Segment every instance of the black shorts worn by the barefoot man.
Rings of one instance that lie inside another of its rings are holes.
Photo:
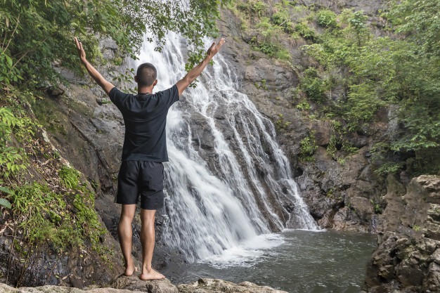
[[[137,204],[141,209],[164,206],[164,165],[161,162],[122,161],[117,179],[118,204]]]

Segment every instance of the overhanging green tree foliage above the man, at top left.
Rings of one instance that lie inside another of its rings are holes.
[[[143,42],[164,44],[179,32],[191,49],[189,63],[202,57],[203,37],[216,33],[219,4],[228,0],[112,1],[8,0],[0,4],[0,82],[33,87],[58,77],[53,64],[78,71],[72,37],[78,36],[91,60],[101,58],[98,42],[112,39],[122,56],[134,57]]]

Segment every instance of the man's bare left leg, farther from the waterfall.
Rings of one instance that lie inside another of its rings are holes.
[[[117,225],[117,235],[125,261],[124,275],[133,275],[134,271],[136,271],[133,258],[131,257],[131,244],[133,242],[131,222],[133,221],[135,211],[136,204],[122,204],[121,217]]]

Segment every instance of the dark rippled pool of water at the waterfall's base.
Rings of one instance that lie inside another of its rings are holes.
[[[260,235],[167,277],[174,283],[198,278],[247,280],[291,293],[358,293],[375,246],[375,235],[285,230]]]

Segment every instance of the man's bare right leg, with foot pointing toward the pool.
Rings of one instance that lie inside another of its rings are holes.
[[[165,278],[151,267],[155,249],[155,214],[156,211],[153,209],[141,209],[142,273],[139,276],[141,280]]]

